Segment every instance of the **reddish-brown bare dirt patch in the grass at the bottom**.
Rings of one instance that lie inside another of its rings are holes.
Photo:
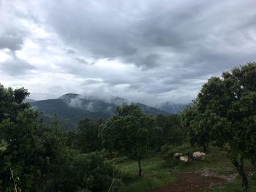
[[[176,175],[176,183],[158,188],[151,192],[197,192],[209,188],[211,183],[225,183],[227,180],[221,177],[205,176],[200,172],[191,172]]]

